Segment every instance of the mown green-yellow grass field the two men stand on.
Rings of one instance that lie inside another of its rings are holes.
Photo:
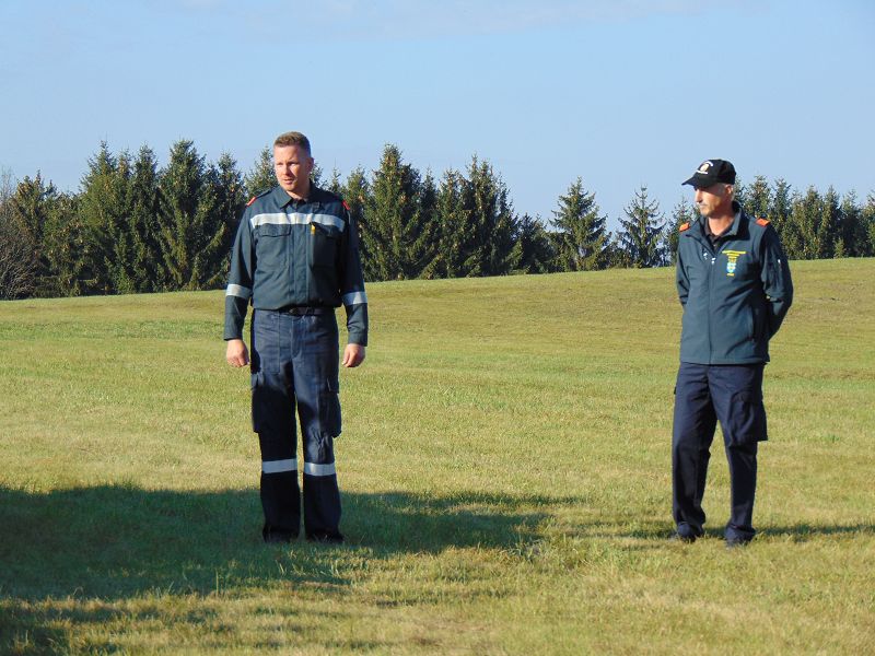
[[[793,273],[735,551],[720,436],[665,539],[668,269],[370,285],[343,547],[260,541],[221,292],[0,303],[0,653],[872,654],[875,260]]]

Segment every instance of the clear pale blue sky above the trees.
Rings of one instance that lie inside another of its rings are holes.
[[[875,191],[872,0],[0,0],[0,168],[62,190],[102,140],[246,171],[296,129],[343,176],[385,143],[435,177],[476,153],[544,219],[581,176],[611,227],[709,157]]]

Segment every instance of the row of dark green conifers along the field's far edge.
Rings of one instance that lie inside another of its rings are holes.
[[[369,281],[665,266],[678,227],[697,216],[686,199],[666,216],[641,187],[611,232],[580,177],[549,219],[521,215],[488,161],[435,179],[393,144],[370,175],[317,166],[313,177],[347,200]],[[101,143],[74,194],[40,173],[16,183],[2,172],[0,298],[219,289],[246,200],[275,184],[269,148],[244,174],[231,155],[208,162],[188,140],[163,167],[147,145],[132,155]],[[861,202],[758,176],[737,184],[736,198],[772,222],[791,259],[875,255],[873,192]]]

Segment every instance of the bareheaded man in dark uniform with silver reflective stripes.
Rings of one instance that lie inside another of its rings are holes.
[[[287,132],[277,138],[279,186],[247,203],[225,293],[226,360],[236,367],[252,365],[266,542],[288,542],[300,530],[295,408],[304,455],[305,535],[320,542],[343,541],[334,453],[340,434],[335,308],[342,303],[347,311],[342,364],[358,366],[368,344],[368,297],[355,223],[340,198],[311,181],[313,163],[306,137]],[[252,362],[242,337],[249,302]]]

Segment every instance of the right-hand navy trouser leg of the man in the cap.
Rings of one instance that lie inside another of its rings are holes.
[[[711,366],[709,388],[730,464],[732,503],[727,539],[754,537],[758,443],[767,438],[762,364]]]

